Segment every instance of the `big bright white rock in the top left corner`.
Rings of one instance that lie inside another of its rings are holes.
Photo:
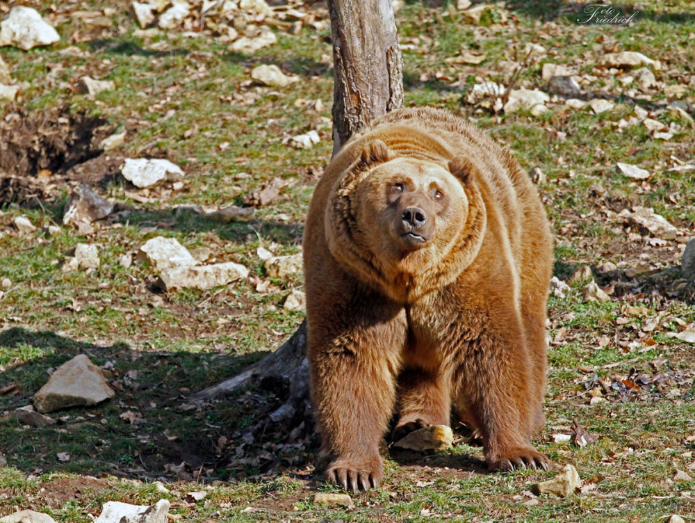
[[[13,45],[28,51],[33,47],[54,44],[58,40],[58,31],[30,7],[15,6],[0,22],[0,47]]]

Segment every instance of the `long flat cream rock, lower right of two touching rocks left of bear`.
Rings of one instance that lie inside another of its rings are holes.
[[[157,285],[170,291],[172,289],[207,290],[220,287],[237,280],[245,280],[249,270],[233,261],[222,264],[196,265],[165,268],[159,273]]]

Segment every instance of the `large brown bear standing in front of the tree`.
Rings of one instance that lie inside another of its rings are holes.
[[[330,162],[304,233],[307,355],[325,477],[379,484],[379,443],[450,424],[489,469],[548,467],[543,426],[552,236],[506,150],[434,108],[384,115]]]

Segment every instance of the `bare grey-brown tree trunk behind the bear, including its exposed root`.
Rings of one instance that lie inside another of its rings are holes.
[[[333,154],[377,116],[403,105],[402,58],[391,0],[328,0],[336,83]],[[266,378],[283,381],[286,403],[270,414],[277,423],[309,408],[306,320],[274,353],[242,373],[199,392],[206,401]]]

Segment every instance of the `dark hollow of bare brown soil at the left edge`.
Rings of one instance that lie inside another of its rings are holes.
[[[67,106],[35,113],[10,107],[0,120],[0,203],[51,200],[69,179],[115,175],[122,159],[99,148],[110,131],[103,118],[71,114]],[[89,168],[78,168],[86,162]]]

